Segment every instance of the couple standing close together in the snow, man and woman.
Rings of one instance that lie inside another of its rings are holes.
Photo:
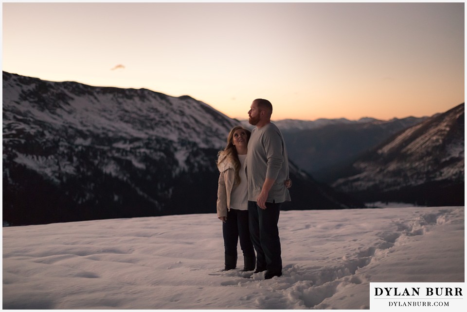
[[[282,203],[290,201],[291,186],[284,138],[271,123],[271,114],[268,100],[255,99],[248,115],[256,128],[250,132],[234,127],[217,159],[217,217],[223,222],[225,270],[236,267],[240,238],[243,270],[266,271],[265,279],[282,275],[277,224]]]

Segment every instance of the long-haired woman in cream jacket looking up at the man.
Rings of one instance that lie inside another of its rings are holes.
[[[243,271],[252,271],[256,256],[248,228],[248,189],[243,164],[247,157],[251,131],[241,126],[234,127],[228,137],[227,146],[218,153],[217,168],[217,217],[222,220],[224,237],[225,270],[237,265],[237,242],[243,251]]]

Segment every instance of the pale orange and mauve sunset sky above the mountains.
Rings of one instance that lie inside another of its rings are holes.
[[[3,70],[189,95],[235,118],[379,119],[464,102],[464,2],[3,3]]]

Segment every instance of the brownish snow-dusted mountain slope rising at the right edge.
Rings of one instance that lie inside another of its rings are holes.
[[[332,185],[346,192],[371,192],[375,197],[415,193],[419,204],[463,204],[464,119],[464,103],[435,115],[354,162],[351,169],[341,171],[348,174]]]

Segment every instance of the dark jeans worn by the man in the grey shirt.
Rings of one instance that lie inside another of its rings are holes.
[[[279,239],[279,212],[281,203],[266,203],[261,209],[255,201],[248,201],[250,235],[256,250],[256,271],[282,272],[281,241]]]

